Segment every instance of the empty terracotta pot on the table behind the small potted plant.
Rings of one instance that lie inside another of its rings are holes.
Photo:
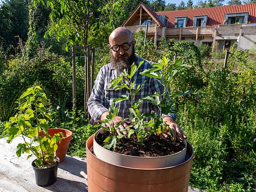
[[[58,143],[58,149],[56,151],[56,155],[59,157],[60,161],[64,161],[65,156],[67,154],[68,148],[69,148],[69,143],[72,139],[73,133],[72,131],[69,131],[68,129],[64,128],[49,128],[48,129],[48,134],[53,136],[55,133],[63,133],[64,139],[61,140],[60,143]],[[44,135],[43,132],[39,133],[39,136]],[[61,135],[60,135],[61,137]]]

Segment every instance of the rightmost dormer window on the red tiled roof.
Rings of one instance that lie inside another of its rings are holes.
[[[224,24],[241,24],[247,23],[249,17],[249,13],[227,13],[225,14],[225,22]]]

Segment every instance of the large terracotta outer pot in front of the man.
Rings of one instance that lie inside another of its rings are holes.
[[[187,192],[193,148],[187,142],[186,161],[157,169],[139,169],[113,165],[98,159],[92,152],[92,135],[86,142],[89,192]]]

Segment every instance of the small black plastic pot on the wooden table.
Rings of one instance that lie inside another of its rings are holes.
[[[56,157],[57,163],[48,168],[38,168],[35,165],[35,160],[32,162],[32,167],[35,171],[36,183],[38,186],[49,186],[57,180],[57,171],[59,166],[59,157]]]

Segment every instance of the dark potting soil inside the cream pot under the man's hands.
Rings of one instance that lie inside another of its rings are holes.
[[[109,132],[98,133],[96,142],[102,147],[108,143],[103,142]],[[115,153],[123,155],[131,155],[138,157],[160,157],[165,155],[175,154],[185,148],[185,144],[181,141],[171,140],[171,136],[165,138],[162,134],[152,134],[150,138],[144,141],[144,144],[138,143],[136,134],[133,134],[130,139],[122,138],[122,141],[117,140],[116,148],[109,149]]]

